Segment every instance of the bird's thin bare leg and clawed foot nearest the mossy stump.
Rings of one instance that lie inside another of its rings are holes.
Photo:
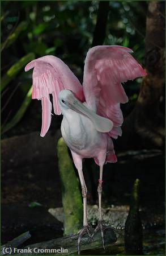
[[[91,237],[90,226],[87,222],[87,187],[84,181],[84,176],[82,170],[78,170],[80,184],[82,187],[82,196],[83,196],[83,228],[78,232],[78,254],[80,254],[80,241],[82,240],[83,234],[87,233]]]

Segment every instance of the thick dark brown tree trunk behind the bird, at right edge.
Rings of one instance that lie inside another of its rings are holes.
[[[142,81],[135,108],[125,119],[118,144],[127,147],[164,146],[164,71],[165,18],[164,2],[151,1],[146,18],[146,55],[148,75]]]

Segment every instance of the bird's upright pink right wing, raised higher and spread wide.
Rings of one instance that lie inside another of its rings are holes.
[[[122,46],[96,46],[88,51],[84,65],[83,91],[87,105],[113,121],[114,127],[109,132],[113,138],[122,134],[120,103],[128,101],[121,82],[146,75],[131,52]]]

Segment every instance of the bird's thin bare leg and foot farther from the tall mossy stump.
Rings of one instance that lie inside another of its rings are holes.
[[[99,185],[98,185],[98,188],[97,188],[97,192],[98,192],[98,195],[99,195],[99,221],[98,221],[98,224],[92,234],[92,237],[95,235],[95,233],[97,233],[99,230],[101,232],[101,238],[102,238],[102,242],[103,242],[103,247],[105,249],[105,245],[104,245],[104,232],[106,229],[112,229],[112,227],[109,227],[109,226],[105,226],[104,225],[104,221],[103,221],[103,218],[102,218],[102,213],[101,213],[101,193],[102,193],[102,190],[103,190],[103,166],[100,166],[100,178],[99,178]]]

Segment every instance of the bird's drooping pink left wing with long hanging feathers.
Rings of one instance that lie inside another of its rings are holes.
[[[84,100],[83,87],[69,67],[57,57],[48,55],[31,61],[26,65],[25,71],[33,69],[32,98],[41,100],[42,127],[41,137],[44,137],[51,122],[52,104],[49,94],[53,96],[54,113],[61,114],[58,103],[58,94],[61,90],[69,89],[80,100]]]

